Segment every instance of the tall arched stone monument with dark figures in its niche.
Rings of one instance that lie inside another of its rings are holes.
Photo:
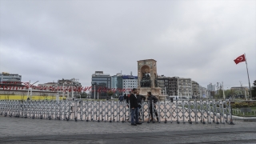
[[[158,87],[157,61],[145,59],[138,62],[138,91],[146,96],[151,91],[152,95],[159,100],[165,100],[166,96],[161,95],[161,88]]]

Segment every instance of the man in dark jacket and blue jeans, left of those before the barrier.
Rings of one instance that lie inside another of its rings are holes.
[[[132,93],[130,94],[130,122],[132,126],[141,125],[141,122],[138,122],[138,98],[136,96],[137,89],[133,89]],[[135,122],[134,122],[134,115],[135,115]]]

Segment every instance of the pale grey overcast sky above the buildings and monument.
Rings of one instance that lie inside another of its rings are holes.
[[[0,71],[22,82],[77,78],[97,70],[137,75],[154,59],[158,75],[201,86],[256,80],[256,1],[0,0]]]

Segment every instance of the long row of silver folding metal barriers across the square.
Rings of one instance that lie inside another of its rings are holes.
[[[16,118],[48,118],[58,120],[127,122],[129,104],[116,101],[0,101],[0,114]],[[230,101],[142,102],[139,104],[142,122],[232,122]],[[157,119],[157,121],[156,121]]]

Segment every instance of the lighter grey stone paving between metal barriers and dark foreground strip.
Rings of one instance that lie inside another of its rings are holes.
[[[256,126],[256,122],[234,121],[235,125],[201,122],[177,124],[173,123],[146,123],[131,126],[129,122],[86,122],[63,121],[31,118],[14,118],[0,116],[0,138],[26,135],[54,135],[54,134],[114,134],[114,133],[151,133],[165,131],[186,130],[227,130],[245,129]]]

